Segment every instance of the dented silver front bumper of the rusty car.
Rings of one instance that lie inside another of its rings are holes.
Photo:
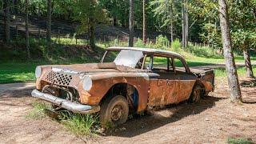
[[[70,110],[74,113],[90,114],[90,113],[98,112],[100,110],[100,106],[89,106],[89,105],[78,104],[75,102],[70,102],[66,99],[58,98],[51,94],[45,94],[38,90],[33,90],[31,95],[34,98],[40,98],[47,102],[51,102],[56,106],[62,107],[66,110]]]

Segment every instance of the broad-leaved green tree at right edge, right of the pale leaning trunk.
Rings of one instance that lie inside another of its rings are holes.
[[[256,25],[253,13],[255,6],[252,0],[230,0],[233,45],[243,51],[246,74],[250,78],[254,78],[248,50],[255,49]]]

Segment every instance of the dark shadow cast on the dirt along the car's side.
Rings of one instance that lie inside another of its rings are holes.
[[[152,115],[135,116],[128,120],[124,125],[119,126],[121,129],[125,127],[126,130],[117,130],[106,135],[113,135],[118,137],[132,138],[136,135],[146,133],[158,127],[165,126],[171,122],[177,122],[189,115],[200,114],[202,111],[209,109],[215,105],[215,102],[223,98],[216,98],[207,96],[201,102],[194,104],[187,104],[182,102],[178,105],[168,106],[166,110],[161,110],[164,114],[159,114],[158,111]]]

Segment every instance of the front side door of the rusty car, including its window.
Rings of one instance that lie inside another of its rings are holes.
[[[152,72],[158,77],[150,78],[148,106],[165,106],[176,102],[178,78],[174,73],[172,58],[154,57]]]

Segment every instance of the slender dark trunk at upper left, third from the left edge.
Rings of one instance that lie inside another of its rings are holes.
[[[46,27],[46,43],[47,50],[50,50],[50,34],[51,34],[51,0],[47,0],[47,27]]]

